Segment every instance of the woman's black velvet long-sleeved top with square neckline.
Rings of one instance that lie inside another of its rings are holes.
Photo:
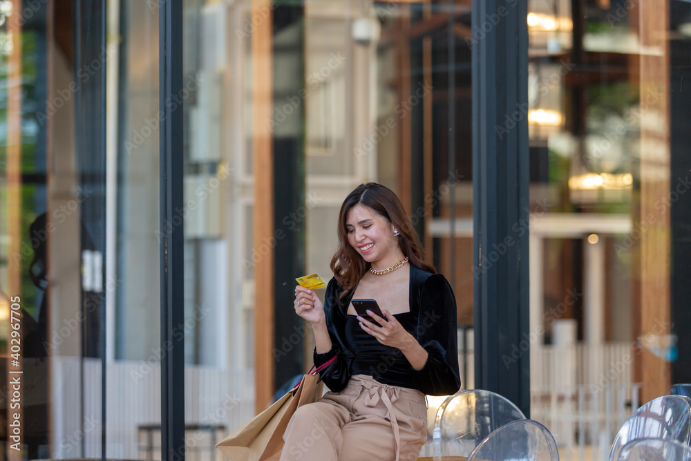
[[[384,346],[362,330],[354,315],[346,314],[352,292],[343,297],[343,286],[332,278],[326,288],[324,313],[332,348],[314,350],[320,366],[337,355],[321,375],[334,392],[342,391],[352,375],[370,375],[382,384],[413,388],[427,395],[451,395],[460,388],[456,344],[456,301],[442,274],[431,274],[410,265],[410,312],[395,314],[428,353],[421,370],[415,370],[403,352]]]

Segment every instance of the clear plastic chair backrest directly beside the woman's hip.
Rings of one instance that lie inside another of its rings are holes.
[[[447,397],[439,406],[433,430],[435,456],[468,456],[495,429],[525,415],[499,394],[472,389]]]

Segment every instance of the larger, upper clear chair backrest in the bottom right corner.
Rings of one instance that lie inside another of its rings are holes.
[[[641,406],[621,426],[609,452],[615,461],[623,447],[643,438],[691,442],[691,399],[681,395],[663,395]]]

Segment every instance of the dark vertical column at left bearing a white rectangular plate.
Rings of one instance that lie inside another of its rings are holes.
[[[68,5],[70,8],[68,8]],[[75,146],[79,185],[80,280],[79,412],[82,421],[85,395],[91,392],[84,379],[85,359],[101,361],[101,459],[106,457],[106,1],[61,1],[55,6],[56,25],[73,33],[75,97]],[[68,21],[66,21],[68,20]],[[88,75],[84,79],[82,75]],[[88,282],[87,282],[88,281]],[[79,442],[84,457],[86,440]]]

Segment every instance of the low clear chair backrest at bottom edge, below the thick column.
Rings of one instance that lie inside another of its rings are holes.
[[[551,433],[533,420],[513,421],[480,442],[467,461],[559,461],[559,451]]]

